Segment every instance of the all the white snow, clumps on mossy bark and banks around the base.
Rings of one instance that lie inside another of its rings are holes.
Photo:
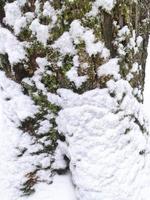
[[[16,0],[6,3],[4,22],[10,25],[16,35],[27,22],[34,18],[33,13],[22,16],[21,6],[26,0]],[[52,19],[51,25],[39,23],[38,18],[30,25],[33,35],[43,45],[47,44],[49,31],[57,20],[57,12],[46,1],[43,15]],[[96,16],[99,8],[110,12],[115,0],[95,0],[88,16]],[[40,10],[40,1],[36,0],[36,14]],[[124,41],[130,35],[127,26],[118,33],[118,41]],[[132,33],[127,48],[136,52],[142,44],[142,37],[136,38]],[[2,200],[149,200],[150,197],[150,141],[149,135],[142,134],[140,126],[145,128],[143,105],[133,94],[138,94],[129,83],[120,79],[118,59],[110,59],[109,50],[101,41],[97,41],[93,30],[83,27],[79,20],[74,20],[68,32],[63,33],[52,47],[63,56],[73,55],[73,66],[67,72],[67,77],[80,87],[87,76],[78,76],[80,66],[76,46],[83,42],[89,56],[99,54],[105,63],[98,70],[98,76],[113,75],[114,80],[107,83],[107,89],[94,89],[81,95],[67,89],[59,89],[57,94],[48,93],[41,79],[50,65],[46,58],[38,57],[38,69],[31,79],[25,79],[29,84],[35,84],[38,90],[47,95],[51,103],[62,106],[58,113],[58,131],[66,137],[66,142],[58,141],[55,162],[52,168],[66,167],[64,155],[70,159],[70,172],[66,175],[55,175],[52,184],[39,183],[35,185],[36,193],[29,197],[21,197],[19,186],[25,181],[24,175],[40,165],[47,168],[51,163],[51,155],[46,153],[33,155],[31,153],[42,149],[40,143],[48,145],[46,137],[38,144],[28,133],[23,133],[18,127],[25,118],[33,116],[37,107],[33,101],[23,94],[21,87],[8,79],[0,71],[0,195]],[[24,43],[17,40],[9,30],[0,26],[0,54],[7,54],[9,62],[16,64],[26,58]],[[118,48],[125,55],[124,46]],[[150,45],[149,45],[150,52]],[[146,84],[144,91],[144,107],[150,119],[150,55],[146,67]],[[61,64],[60,64],[61,66]],[[84,67],[89,67],[84,63]],[[133,77],[141,66],[134,63],[127,80]],[[112,97],[113,96],[113,97]],[[45,134],[51,128],[51,114],[39,122],[37,134]],[[150,121],[150,120],[149,120]],[[27,151],[18,159],[19,149]],[[144,152],[144,153],[142,153]],[[50,170],[39,170],[39,181],[52,181]],[[75,197],[75,192],[77,197]]]

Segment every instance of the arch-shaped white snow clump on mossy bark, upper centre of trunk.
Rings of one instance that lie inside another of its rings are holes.
[[[63,55],[74,55],[76,49],[73,43],[77,45],[80,42],[85,43],[86,52],[89,56],[100,54],[104,59],[107,59],[110,56],[110,52],[105,47],[104,43],[101,41],[96,42],[93,30],[83,27],[79,20],[74,20],[70,25],[69,32],[63,33],[63,35],[55,41],[52,47],[58,49]]]

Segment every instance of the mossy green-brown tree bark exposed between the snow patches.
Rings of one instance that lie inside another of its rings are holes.
[[[45,2],[46,1],[44,0],[40,1],[41,10]],[[47,66],[47,68],[50,68],[53,73],[51,75],[44,74],[42,77],[42,83],[45,85],[48,92],[51,93],[56,93],[58,88],[67,88],[82,94],[85,91],[97,87],[105,88],[107,87],[106,83],[108,80],[113,79],[111,75],[98,77],[97,69],[104,64],[106,60],[98,53],[95,55],[89,55],[85,51],[84,42],[80,42],[76,45],[80,61],[78,75],[87,75],[88,79],[82,84],[81,87],[76,87],[76,85],[67,78],[66,73],[72,67],[73,56],[70,54],[61,55],[59,51],[51,48],[50,45],[52,45],[64,32],[69,31],[70,25],[74,20],[78,19],[84,27],[93,29],[96,41],[104,42],[105,46],[110,50],[109,59],[115,57],[120,59],[120,75],[124,80],[128,80],[127,75],[130,73],[133,63],[137,62],[139,66],[142,66],[138,72],[132,73],[132,78],[128,81],[133,88],[138,88],[140,93],[136,94],[136,97],[140,102],[143,101],[143,96],[141,94],[143,93],[144,88],[145,62],[147,57],[148,35],[150,33],[150,17],[148,9],[150,8],[149,0],[138,0],[137,3],[131,0],[118,0],[112,11],[108,12],[100,7],[98,14],[90,17],[86,14],[91,10],[92,3],[92,0],[51,1],[51,5],[55,10],[63,9],[57,14],[57,21],[49,34],[48,45],[44,46],[37,41],[37,38],[32,35],[32,32],[29,30],[29,23],[28,26],[23,28],[20,34],[17,35],[18,40],[27,41],[30,44],[29,47],[26,48],[27,59],[20,61],[20,63],[15,65],[11,65],[7,54],[0,54],[1,69],[7,73],[8,77],[11,77],[15,81],[22,84],[24,92],[33,98],[35,104],[40,106],[39,113],[35,119],[27,119],[22,122],[21,128],[24,131],[28,131],[32,137],[37,138],[38,142],[38,139],[42,138],[43,135],[36,135],[36,131],[39,128],[37,122],[44,120],[44,116],[48,114],[49,111],[54,114],[51,119],[53,127],[48,133],[46,133],[46,136],[52,140],[52,144],[46,148],[43,146],[43,150],[41,150],[41,152],[37,152],[37,154],[46,152],[53,155],[57,146],[57,139],[59,138],[60,140],[65,140],[63,136],[59,135],[56,129],[55,118],[60,108],[48,102],[47,97],[42,94],[42,91],[39,91],[36,86],[31,87],[23,80],[26,77],[32,77],[34,72],[38,69],[38,65],[36,63],[37,57],[47,57],[47,60],[51,63],[51,65]],[[4,4],[5,3],[3,1],[0,1],[0,22],[2,26],[4,26]],[[23,6],[23,13],[29,11],[35,11],[35,1],[29,0]],[[39,19],[41,24],[51,23],[51,19],[44,17],[41,11],[39,11],[39,15],[36,17]],[[128,27],[129,34],[125,34],[124,39],[120,40],[118,33],[124,26]],[[12,27],[9,27],[8,25],[7,27],[14,34]],[[133,37],[136,42],[138,36],[141,36],[143,41],[135,52],[134,48],[129,48],[128,44],[130,39]],[[119,45],[122,45],[121,48],[124,50],[125,54],[120,53]],[[61,68],[58,66],[58,61],[60,60],[62,63]],[[83,68],[82,65],[84,63],[87,63],[90,67]],[[35,92],[37,92],[36,95]],[[38,170],[39,169],[37,169],[37,171]],[[30,181],[27,181],[22,188],[27,194],[32,190],[32,186],[34,184],[34,181],[32,182],[32,180],[36,180],[35,178],[33,179],[33,177],[36,176],[37,171],[29,174],[28,177]]]

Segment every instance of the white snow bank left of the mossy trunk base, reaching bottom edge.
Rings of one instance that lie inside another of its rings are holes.
[[[20,184],[24,181],[25,173],[34,169],[35,164],[49,166],[50,158],[44,155],[29,156],[29,152],[40,149],[33,146],[34,141],[28,134],[18,129],[20,120],[33,116],[37,112],[33,101],[23,95],[21,87],[8,79],[0,71],[0,194],[2,200],[76,200],[74,187],[69,174],[54,176],[53,184],[40,183],[36,185],[36,193],[30,197],[21,197]],[[48,121],[43,121],[41,129],[49,128]],[[44,129],[45,130],[45,129]],[[42,130],[43,131],[43,130]],[[46,130],[45,130],[46,131]],[[17,158],[18,149],[26,147],[29,152]],[[48,173],[39,171],[39,177],[47,178]]]

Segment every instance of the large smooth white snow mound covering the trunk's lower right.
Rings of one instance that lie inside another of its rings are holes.
[[[148,200],[148,137],[131,86],[120,80],[82,95],[58,93],[63,107],[58,130],[66,137],[77,199]]]

